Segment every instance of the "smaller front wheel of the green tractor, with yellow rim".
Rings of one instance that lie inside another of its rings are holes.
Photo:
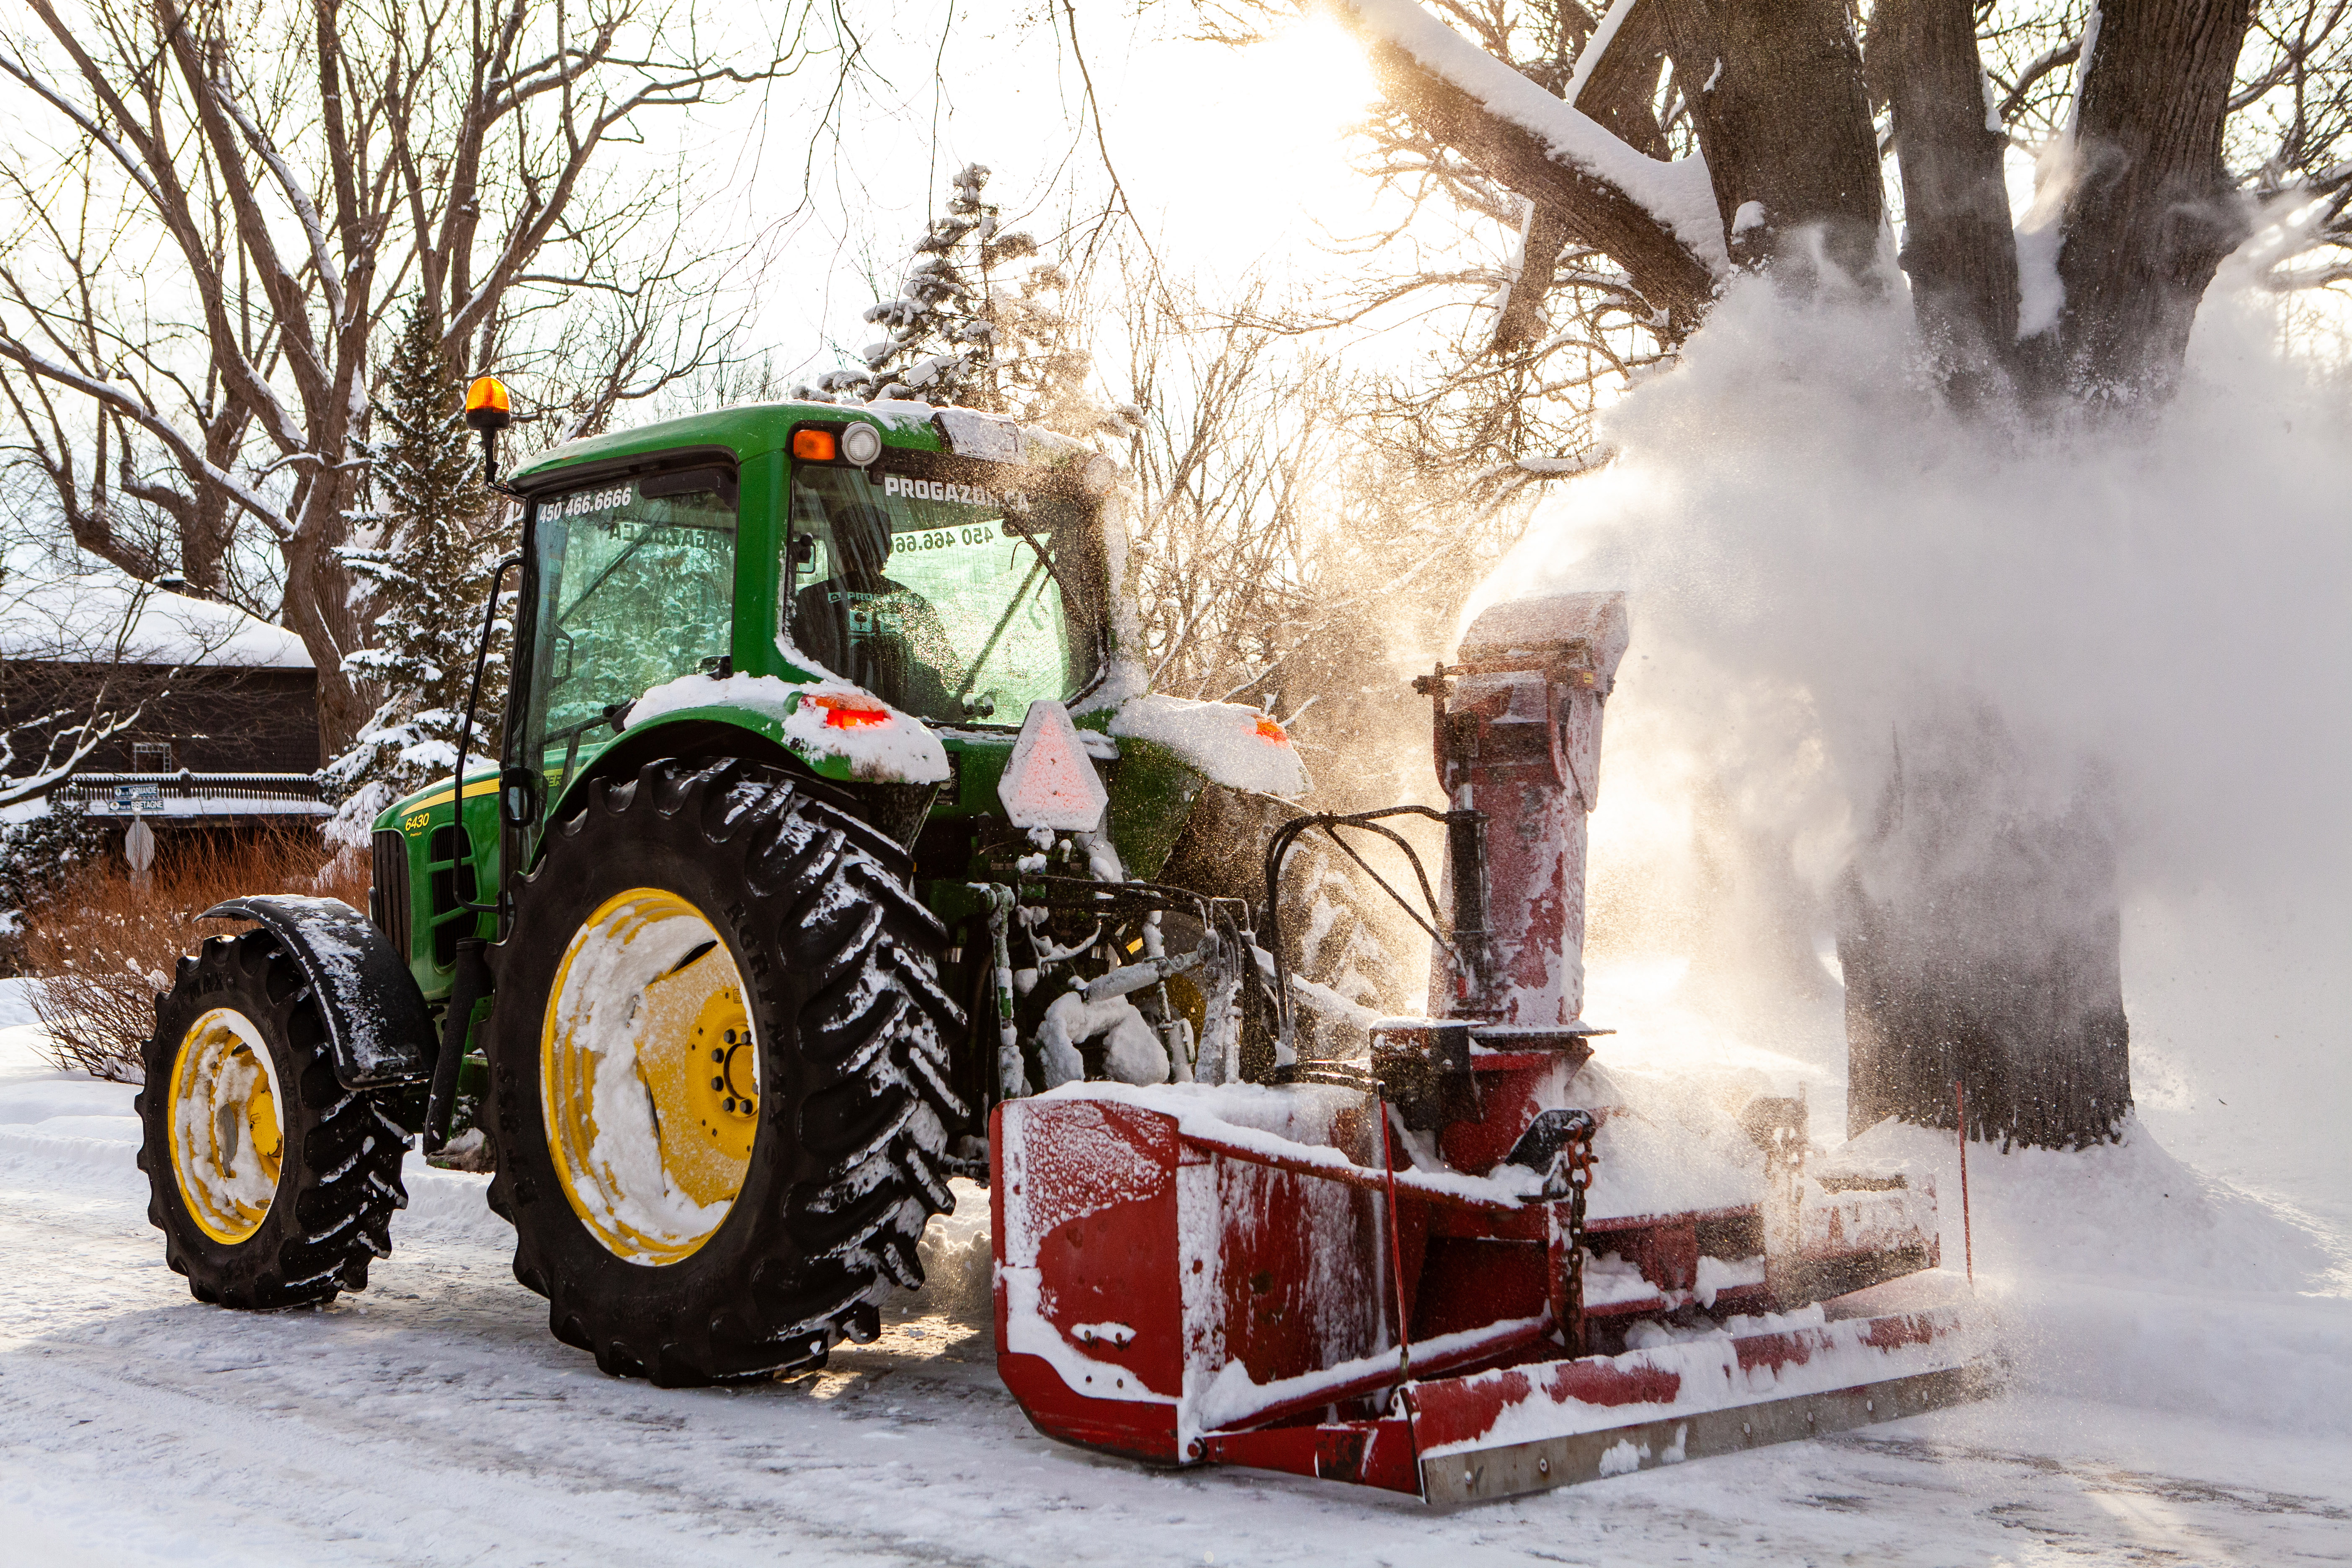
[[[139,1168],[148,1220],[188,1291],[296,1307],[365,1291],[407,1206],[409,1135],[334,1077],[318,994],[268,931],[214,936],[155,999]]]

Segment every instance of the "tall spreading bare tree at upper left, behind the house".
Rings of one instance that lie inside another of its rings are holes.
[[[564,430],[694,374],[727,324],[680,308],[713,259],[677,176],[616,174],[661,113],[837,52],[818,0],[743,47],[694,0],[28,0],[0,73],[49,146],[0,165],[0,395],[73,538],[125,571],[247,585],[273,555],[339,750],[369,712],[343,656],[388,301],[454,371],[536,353]],[[833,54],[837,61],[840,56]]]

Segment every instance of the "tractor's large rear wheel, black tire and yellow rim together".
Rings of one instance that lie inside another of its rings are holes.
[[[557,1340],[663,1387],[757,1378],[922,1284],[967,1112],[910,870],[743,759],[593,780],[550,825],[492,950],[489,1121]]]

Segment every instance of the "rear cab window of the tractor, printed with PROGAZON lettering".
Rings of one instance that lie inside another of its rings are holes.
[[[917,717],[1018,724],[1094,679],[1091,517],[1075,498],[997,489],[1021,470],[957,470],[795,463],[781,630]]]

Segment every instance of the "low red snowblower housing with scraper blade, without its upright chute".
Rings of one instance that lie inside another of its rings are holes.
[[[1971,1392],[1952,1307],[1792,1300],[1806,1279],[1933,1262],[1922,1194],[1809,1182],[1813,1246],[1785,1260],[1750,1251],[1759,1206],[1592,1215],[1588,1354],[1573,1354],[1557,1302],[1566,1199],[1397,1168],[1390,1225],[1388,1173],[1364,1150],[1374,1114],[1317,1086],[1089,1084],[1000,1107],[997,1371],[1028,1418],[1162,1465],[1465,1502]],[[1602,1197],[1606,1168],[1602,1150]],[[1832,1241],[1849,1215],[1858,1246]]]

